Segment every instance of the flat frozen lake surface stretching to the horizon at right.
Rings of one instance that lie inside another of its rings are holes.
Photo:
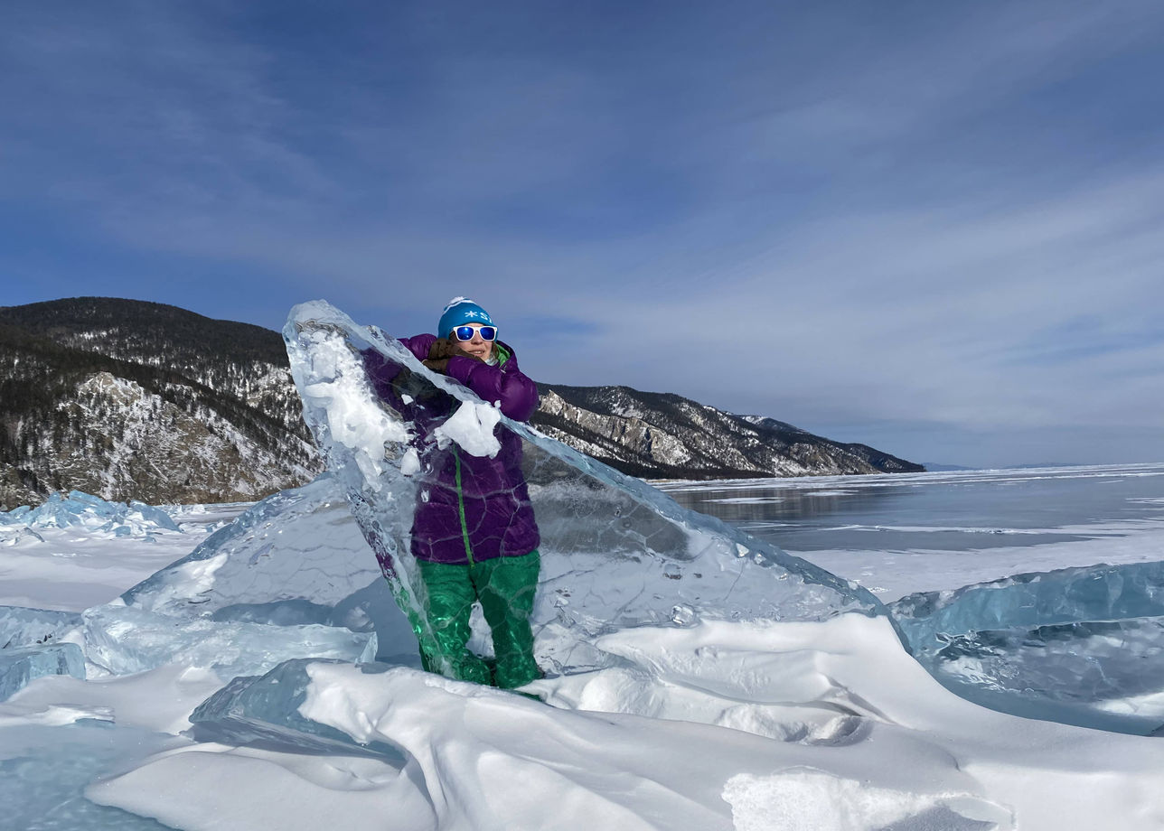
[[[665,483],[883,601],[1164,559],[1164,463]]]

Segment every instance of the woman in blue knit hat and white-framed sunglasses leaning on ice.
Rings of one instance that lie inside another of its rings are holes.
[[[497,403],[511,419],[527,421],[538,406],[538,390],[518,369],[513,348],[497,340],[497,326],[481,306],[454,298],[445,307],[438,335],[402,339],[430,369]],[[540,541],[521,474],[521,440],[504,427],[495,429],[501,450],[475,456],[455,443],[440,449],[428,433],[452,412],[447,396],[400,393],[399,369],[369,361],[377,391],[412,419],[421,435],[412,555],[423,581],[431,638],[421,638],[425,669],[450,677],[521,687],[541,676],[533,658],[533,611]],[[469,616],[480,602],[492,631],[496,666],[491,669],[467,646]]]

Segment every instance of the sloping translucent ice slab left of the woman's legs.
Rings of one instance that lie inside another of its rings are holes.
[[[178,661],[230,679],[294,658],[406,653],[414,638],[325,476],[263,499],[118,601],[86,610],[84,642],[94,674]]]

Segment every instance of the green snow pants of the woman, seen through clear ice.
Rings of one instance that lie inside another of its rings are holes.
[[[503,556],[467,566],[418,560],[425,588],[425,617],[432,638],[421,640],[420,662],[460,681],[513,689],[541,677],[533,660],[530,615],[538,589],[541,555]],[[496,667],[469,651],[469,616],[481,602],[492,630]],[[436,654],[430,654],[436,652]]]

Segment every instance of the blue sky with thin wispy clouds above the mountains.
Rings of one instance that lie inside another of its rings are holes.
[[[0,9],[0,305],[390,332],[914,461],[1164,459],[1164,3]]]

